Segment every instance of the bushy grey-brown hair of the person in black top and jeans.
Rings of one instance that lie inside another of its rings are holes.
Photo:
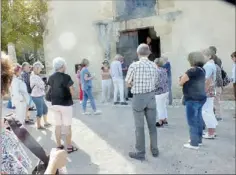
[[[189,53],[188,61],[193,67],[202,67],[205,64],[205,58],[201,52]]]

